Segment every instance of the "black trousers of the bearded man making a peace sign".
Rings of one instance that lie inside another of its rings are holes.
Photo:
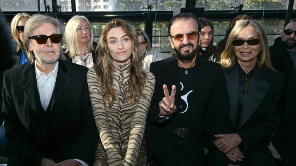
[[[180,137],[172,134],[152,156],[157,166],[202,166],[203,144],[198,135]]]

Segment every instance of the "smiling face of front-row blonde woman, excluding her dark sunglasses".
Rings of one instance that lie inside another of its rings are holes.
[[[256,33],[255,28],[253,28],[252,26],[246,26],[238,33],[236,39],[258,39],[258,34]],[[245,42],[241,46],[234,46],[234,53],[239,64],[250,62],[252,64],[256,64],[257,56],[260,52],[260,49],[261,43],[259,43],[258,45],[248,45],[247,42]]]

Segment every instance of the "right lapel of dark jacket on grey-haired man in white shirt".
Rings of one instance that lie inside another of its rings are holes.
[[[64,92],[65,88],[68,86],[71,80],[71,78],[68,76],[69,74],[70,73],[66,64],[63,61],[59,60],[59,69],[58,69],[57,77],[55,80],[55,88],[51,95],[51,106],[50,106],[51,111],[55,102],[60,97],[60,95]]]

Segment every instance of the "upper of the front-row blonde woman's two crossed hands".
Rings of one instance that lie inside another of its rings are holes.
[[[242,142],[238,134],[218,134],[215,137],[218,139],[214,141],[214,144],[223,153],[228,153]]]

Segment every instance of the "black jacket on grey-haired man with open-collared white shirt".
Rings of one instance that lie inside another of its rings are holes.
[[[89,99],[87,71],[84,66],[59,60],[51,105],[47,110],[51,112],[54,139],[62,153],[68,159],[91,164],[99,136]],[[27,160],[50,150],[42,110],[35,64],[26,63],[7,70],[2,107],[6,137],[22,158],[10,158],[9,162]]]

